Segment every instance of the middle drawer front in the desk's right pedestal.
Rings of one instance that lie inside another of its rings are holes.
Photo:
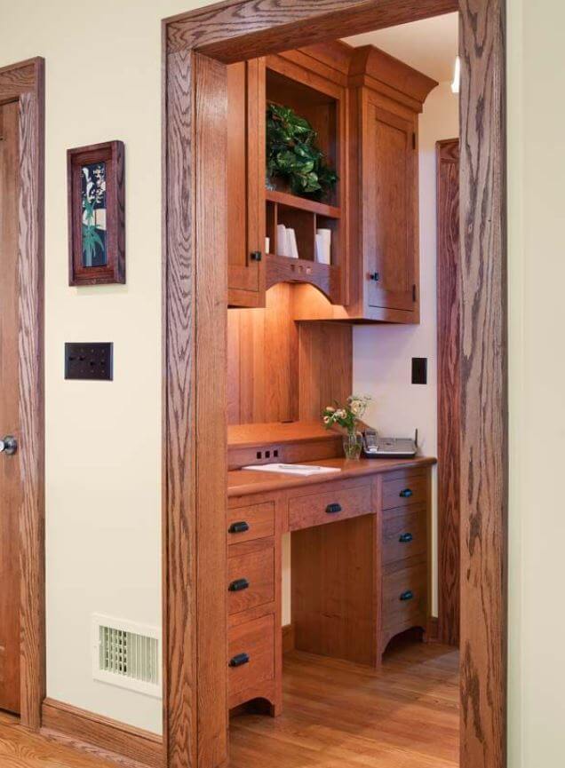
[[[427,551],[426,505],[388,510],[383,517],[383,564],[395,563]]]

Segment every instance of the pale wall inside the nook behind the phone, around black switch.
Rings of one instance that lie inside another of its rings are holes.
[[[354,328],[354,390],[373,398],[366,416],[381,434],[408,437],[418,427],[422,453],[437,455],[435,142],[459,132],[458,97],[441,83],[419,119],[420,305],[418,326]],[[411,384],[412,357],[428,359],[428,384]],[[434,471],[434,599],[437,611],[437,488]]]

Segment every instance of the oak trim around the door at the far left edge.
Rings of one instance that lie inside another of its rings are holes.
[[[37,730],[45,693],[44,59],[0,69],[0,104],[20,118],[20,718]]]

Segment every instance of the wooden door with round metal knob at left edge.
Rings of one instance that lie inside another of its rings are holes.
[[[0,107],[0,439],[20,438],[18,102]],[[0,444],[0,447],[4,447]],[[0,453],[0,708],[20,711],[20,460]]]

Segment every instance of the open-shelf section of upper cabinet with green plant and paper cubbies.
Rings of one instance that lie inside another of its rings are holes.
[[[347,301],[347,77],[346,71],[331,64],[309,49],[267,57],[267,106],[290,109],[292,119],[306,120],[315,131],[314,143],[304,142],[306,151],[309,146],[321,150],[324,165],[337,174],[338,181],[329,188],[302,193],[289,178],[276,173],[267,178],[266,280],[267,289],[278,282],[309,283],[329,302],[340,305]],[[267,143],[268,139],[267,131]],[[282,155],[291,160],[300,146],[289,145],[289,149]],[[304,162],[310,162],[309,155]],[[290,243],[282,242],[282,237],[288,240],[288,232]],[[320,236],[328,237],[325,258],[316,254]]]

